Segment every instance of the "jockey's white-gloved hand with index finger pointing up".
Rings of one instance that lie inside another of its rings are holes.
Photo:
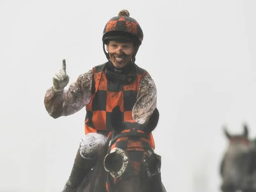
[[[52,77],[53,90],[55,92],[62,92],[69,82],[69,76],[66,73],[66,60],[62,60],[62,69]]]

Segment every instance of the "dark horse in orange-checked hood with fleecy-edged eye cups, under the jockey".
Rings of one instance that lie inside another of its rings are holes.
[[[161,181],[161,156],[154,153],[148,140],[158,123],[158,110],[147,125],[123,122],[122,118],[116,106],[111,115],[114,130],[76,192],[166,192]]]

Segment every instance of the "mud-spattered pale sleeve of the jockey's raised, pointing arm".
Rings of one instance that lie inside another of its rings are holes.
[[[72,115],[91,100],[92,70],[79,75],[75,82],[70,84],[67,90],[61,93],[49,88],[44,96],[46,111],[53,118]]]

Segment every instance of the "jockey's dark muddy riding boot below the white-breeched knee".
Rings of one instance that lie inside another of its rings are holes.
[[[61,192],[75,192],[86,175],[91,171],[94,162],[95,160],[93,159],[83,158],[78,149],[72,171]]]

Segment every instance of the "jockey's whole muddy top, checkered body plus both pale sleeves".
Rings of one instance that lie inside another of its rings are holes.
[[[124,76],[108,71],[106,64],[78,76],[68,90],[61,93],[49,88],[44,98],[49,115],[53,118],[68,116],[86,106],[85,134],[99,132],[106,136],[112,130],[108,116],[116,105],[120,106],[125,121],[146,122],[156,108],[156,85],[151,76],[134,64],[136,78],[131,84],[115,81],[116,76],[121,79]],[[151,147],[155,148],[152,134],[150,141]]]

